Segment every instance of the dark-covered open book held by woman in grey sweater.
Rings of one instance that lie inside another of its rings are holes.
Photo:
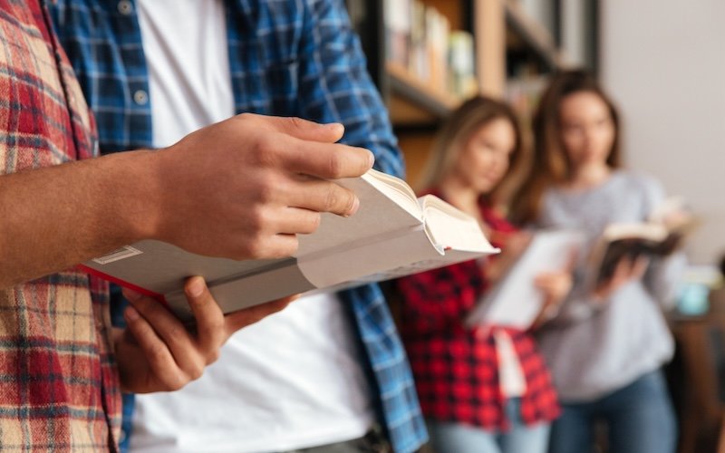
[[[591,284],[595,287],[607,282],[624,258],[670,255],[699,223],[683,207],[681,198],[668,198],[645,222],[606,226],[592,249],[590,259],[594,278]]]

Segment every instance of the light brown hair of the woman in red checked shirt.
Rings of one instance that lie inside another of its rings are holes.
[[[514,111],[504,102],[476,96],[463,102],[440,128],[433,147],[430,150],[430,159],[423,176],[420,179],[419,189],[438,188],[444,178],[447,178],[460,159],[460,154],[471,137],[480,128],[493,120],[504,119],[514,128],[515,145],[511,153],[507,175],[498,183],[487,198],[494,202],[502,202],[502,194],[515,180],[520,180],[520,173],[525,167],[525,145],[521,133],[521,126]]]

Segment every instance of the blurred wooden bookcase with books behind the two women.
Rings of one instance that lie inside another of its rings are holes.
[[[563,13],[572,11],[572,1],[588,5],[585,17],[577,20],[596,21],[595,0],[347,1],[361,34],[368,69],[391,113],[412,185],[425,166],[441,121],[470,95],[478,92],[505,98],[522,120],[528,119],[546,75],[573,63],[562,47],[566,37],[562,30],[572,26],[560,18],[571,19],[572,14]],[[421,9],[434,10],[432,19]],[[595,34],[596,24],[587,27]],[[469,55],[461,57],[462,61],[449,55],[441,59],[440,42],[447,41],[440,37],[444,33],[460,34],[448,41],[463,42],[459,48],[468,49]],[[416,46],[427,38],[421,34],[436,36],[432,43],[424,41],[426,50],[422,52]],[[465,43],[467,39],[470,45]],[[431,49],[434,46],[438,50]],[[595,61],[595,55],[591,60]],[[448,70],[434,73],[438,72],[434,62],[447,62]],[[458,66],[451,72],[454,64]],[[472,81],[451,83],[451,77],[459,77],[457,71],[468,70]],[[441,82],[441,77],[446,81]]]

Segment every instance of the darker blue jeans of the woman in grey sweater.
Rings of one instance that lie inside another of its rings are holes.
[[[607,451],[673,453],[677,425],[662,371],[652,371],[600,400],[564,404],[551,430],[549,453],[594,449],[594,423],[604,422]]]

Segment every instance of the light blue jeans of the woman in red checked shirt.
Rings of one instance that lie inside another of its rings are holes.
[[[428,420],[430,445],[436,453],[545,453],[550,424],[525,425],[517,398],[507,400],[505,409],[511,423],[507,432]]]

